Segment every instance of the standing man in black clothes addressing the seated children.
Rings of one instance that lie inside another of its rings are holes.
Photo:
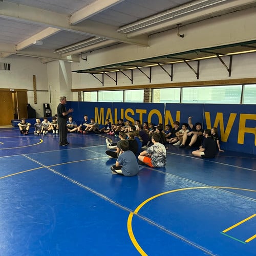
[[[66,110],[65,104],[67,102],[66,96],[59,97],[59,104],[57,107],[57,115],[58,115],[58,125],[59,125],[59,145],[60,146],[67,146],[69,144],[67,140],[67,119],[68,114],[72,113],[74,110],[69,109]]]

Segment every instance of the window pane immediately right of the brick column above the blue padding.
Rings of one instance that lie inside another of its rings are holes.
[[[179,103],[180,88],[161,88],[152,90],[152,102],[154,103]]]

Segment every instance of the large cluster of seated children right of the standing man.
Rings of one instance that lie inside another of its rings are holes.
[[[146,146],[142,147],[145,150],[142,152],[140,148],[138,151],[135,150],[134,144],[136,141],[134,139],[134,134],[142,139],[138,133],[135,126],[130,125],[130,123],[125,123],[125,129],[134,127],[134,132],[130,131],[125,134],[123,129],[119,132],[120,140],[117,143],[111,143],[109,138],[106,139],[108,147],[115,148],[115,151],[107,150],[105,153],[112,158],[117,158],[116,164],[111,166],[112,174],[120,174],[124,176],[134,176],[138,173],[138,166],[136,160],[136,155],[138,155],[138,160],[141,163],[144,163],[151,167],[164,167],[166,164],[166,147],[165,141],[172,143],[173,145],[180,145],[180,148],[191,148],[199,147],[199,150],[193,151],[193,156],[202,157],[202,158],[214,158],[217,150],[223,152],[220,147],[220,137],[217,133],[217,128],[213,127],[211,130],[205,129],[202,130],[202,124],[197,122],[195,125],[191,122],[192,117],[188,118],[188,123],[182,124],[182,129],[179,128],[179,122],[174,122],[173,129],[170,129],[170,125],[165,125],[165,130],[162,129],[162,124],[159,124],[152,127],[152,124],[148,126],[137,123],[138,131],[142,131],[141,134],[146,134],[149,136]],[[122,122],[122,120],[121,120]],[[188,126],[191,131],[188,130]],[[124,127],[124,125],[123,125]],[[147,127],[146,132],[143,127]],[[149,130],[151,128],[151,130]],[[134,144],[131,143],[134,141]],[[125,146],[122,146],[122,145]],[[125,154],[123,154],[126,152]],[[128,154],[129,152],[129,154]],[[136,154],[137,152],[137,154]],[[122,156],[120,154],[123,154]],[[129,157],[128,157],[129,155]],[[127,159],[126,157],[127,156]],[[133,164],[131,164],[133,163]]]

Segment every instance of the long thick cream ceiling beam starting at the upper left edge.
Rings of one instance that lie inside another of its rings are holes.
[[[94,22],[93,20],[85,20],[82,23],[71,26],[69,24],[69,17],[65,14],[11,2],[0,3],[0,17],[16,20],[17,22],[103,37],[114,41],[124,42],[126,44],[148,46],[148,36],[127,38],[126,35],[116,32],[117,27]]]

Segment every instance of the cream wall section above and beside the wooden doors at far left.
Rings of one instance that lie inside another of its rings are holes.
[[[49,102],[47,66],[37,58],[21,56],[0,58],[0,62],[11,64],[11,71],[0,70],[0,88],[29,90],[28,103],[35,109],[37,117],[42,116],[42,103]],[[33,75],[38,90],[37,104],[34,103]]]

